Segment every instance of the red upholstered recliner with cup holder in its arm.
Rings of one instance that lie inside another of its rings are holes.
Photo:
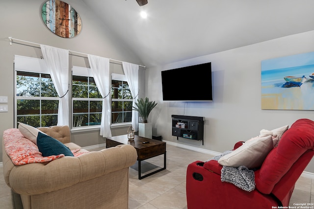
[[[239,146],[237,143],[235,146]],[[295,182],[314,155],[314,121],[299,119],[284,133],[254,171],[255,189],[242,190],[221,182],[217,161],[196,161],[187,167],[188,209],[271,209],[288,206]]]

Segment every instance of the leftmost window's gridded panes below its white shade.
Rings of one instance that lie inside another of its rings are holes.
[[[34,127],[57,124],[59,98],[49,74],[16,71],[17,122]]]

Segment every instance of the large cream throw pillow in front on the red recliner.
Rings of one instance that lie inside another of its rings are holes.
[[[258,168],[273,148],[271,136],[256,137],[246,141],[232,153],[221,157],[218,163],[230,167],[244,165],[249,169]]]

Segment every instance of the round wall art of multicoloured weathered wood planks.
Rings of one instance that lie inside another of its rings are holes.
[[[45,25],[55,35],[72,38],[78,35],[82,23],[75,9],[61,0],[48,0],[42,7]]]

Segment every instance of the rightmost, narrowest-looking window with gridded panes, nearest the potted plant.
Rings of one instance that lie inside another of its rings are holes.
[[[124,77],[124,76],[121,76]],[[113,75],[114,78],[114,75]],[[127,81],[111,80],[111,123],[130,123],[132,95]]]

